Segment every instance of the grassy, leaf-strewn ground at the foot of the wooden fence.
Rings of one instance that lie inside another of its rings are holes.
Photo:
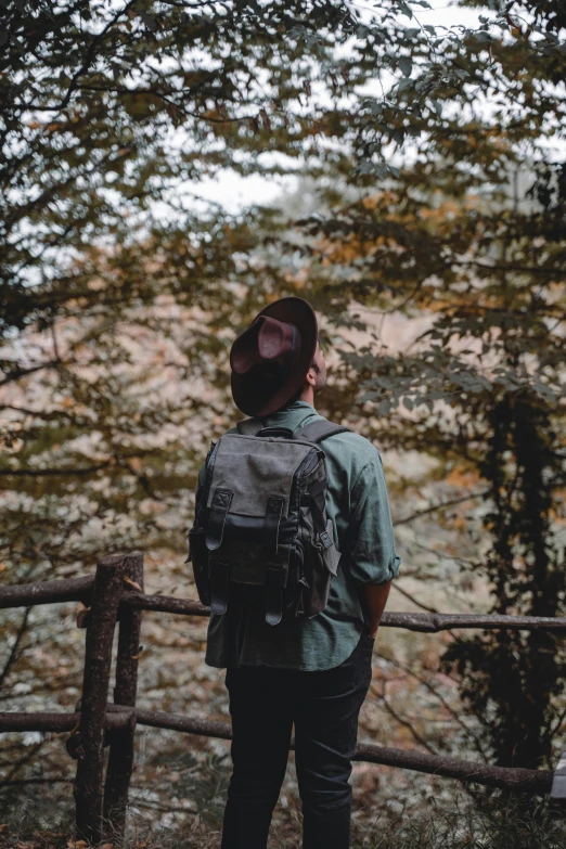
[[[203,775],[204,783],[210,776]],[[217,790],[226,775],[219,770]],[[452,803],[423,805],[417,812],[377,813],[356,807],[351,849],[565,849],[566,808],[550,799],[520,799],[483,795],[474,800],[463,788],[450,790]],[[284,797],[283,797],[284,800]],[[41,806],[9,809],[0,806],[0,849],[87,849],[74,835],[70,805],[48,812]],[[98,849],[220,849],[221,806],[211,803],[194,811],[169,809],[168,819],[156,824],[155,809],[131,802],[126,837],[106,837]],[[49,827],[46,827],[49,823]],[[295,800],[275,809],[270,849],[300,849],[301,814]]]

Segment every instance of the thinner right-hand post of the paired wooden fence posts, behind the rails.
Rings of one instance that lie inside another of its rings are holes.
[[[143,553],[133,552],[126,561],[125,577],[143,590]],[[130,584],[131,586],[131,584]],[[125,589],[128,589],[125,587]],[[136,708],[138,656],[143,610],[124,607],[118,615],[118,656],[114,704]],[[128,788],[133,770],[133,735],[136,710],[124,729],[108,731],[110,755],[104,785],[104,832],[106,837],[124,836]]]

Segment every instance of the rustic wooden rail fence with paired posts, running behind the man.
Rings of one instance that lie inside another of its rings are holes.
[[[231,738],[228,723],[144,710],[136,705],[140,627],[143,610],[208,616],[195,601],[143,592],[143,554],[115,554],[100,561],[94,575],[0,589],[0,608],[59,602],[82,602],[77,626],[86,629],[82,695],[73,713],[0,712],[0,732],[70,732],[65,746],[77,761],[74,783],[77,835],[97,842],[121,837],[133,770],[136,725],[172,729],[208,737]],[[108,703],[112,646],[118,623],[116,681]],[[566,632],[566,619],[527,616],[468,616],[385,613],[382,627],[437,632],[452,628],[544,629]],[[292,741],[292,748],[294,743]],[[104,748],[108,747],[104,775]],[[355,760],[417,770],[489,787],[545,794],[553,773],[546,770],[491,767],[417,750],[359,744]]]

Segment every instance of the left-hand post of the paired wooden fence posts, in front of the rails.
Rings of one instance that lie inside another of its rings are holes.
[[[79,743],[76,748],[77,774],[73,795],[78,835],[90,842],[98,842],[102,837],[106,702],[114,629],[126,562],[126,554],[113,554],[99,562],[85,641]]]

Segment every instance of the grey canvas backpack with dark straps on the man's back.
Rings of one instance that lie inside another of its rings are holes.
[[[245,419],[211,442],[186,562],[213,613],[235,597],[269,625],[324,609],[340,553],[321,442],[349,429],[324,420],[293,433]]]

